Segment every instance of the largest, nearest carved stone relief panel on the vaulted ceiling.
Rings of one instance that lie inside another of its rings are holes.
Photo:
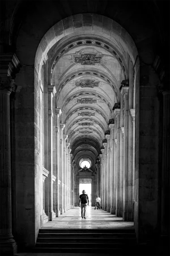
[[[82,54],[80,57],[75,57],[75,62],[82,65],[95,65],[100,61],[101,57],[96,57],[96,54]]]

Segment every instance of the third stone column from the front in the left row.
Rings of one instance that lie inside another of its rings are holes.
[[[60,159],[59,159],[59,208],[60,213],[63,214],[63,129],[65,125],[60,123]]]

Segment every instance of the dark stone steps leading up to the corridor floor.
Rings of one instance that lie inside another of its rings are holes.
[[[40,229],[34,252],[120,255],[135,246],[134,229]]]

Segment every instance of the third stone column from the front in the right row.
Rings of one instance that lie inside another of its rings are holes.
[[[113,120],[114,121],[114,120]],[[115,172],[116,170],[114,169],[114,123],[109,124],[109,128],[111,129],[111,214],[115,214],[116,212],[116,187],[114,184],[114,179],[115,179]]]

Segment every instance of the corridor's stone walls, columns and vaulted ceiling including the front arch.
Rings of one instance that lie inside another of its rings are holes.
[[[77,17],[83,34],[73,22]],[[37,49],[42,224],[78,206],[80,184],[91,184],[92,206],[99,195],[102,209],[134,218],[137,49],[126,31],[125,44],[116,22],[107,21],[108,28],[114,24],[109,32],[99,20],[107,18],[82,14],[61,20]],[[48,39],[62,24],[66,31]]]

